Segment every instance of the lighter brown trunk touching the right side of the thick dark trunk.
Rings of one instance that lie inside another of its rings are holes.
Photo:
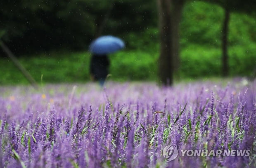
[[[180,19],[185,0],[172,0],[171,9],[171,30],[172,30],[172,52],[173,52],[173,72],[179,77],[180,69]]]

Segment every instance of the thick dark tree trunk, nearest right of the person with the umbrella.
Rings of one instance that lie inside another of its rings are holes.
[[[171,2],[170,0],[157,0],[157,5],[160,35],[159,77],[161,84],[167,86],[173,84]]]

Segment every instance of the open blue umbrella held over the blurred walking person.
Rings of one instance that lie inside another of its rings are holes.
[[[124,46],[124,42],[120,38],[106,35],[94,40],[90,44],[89,51],[93,54],[103,55],[123,49]]]

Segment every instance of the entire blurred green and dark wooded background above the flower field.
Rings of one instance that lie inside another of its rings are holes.
[[[182,2],[175,80],[223,76],[225,23],[228,75],[224,76],[254,78],[256,1]],[[90,81],[88,47],[101,35],[114,35],[126,43],[124,50],[109,55],[111,80],[159,79],[156,0],[5,0],[0,8],[0,39],[36,82]],[[0,84],[28,84],[2,48]]]

